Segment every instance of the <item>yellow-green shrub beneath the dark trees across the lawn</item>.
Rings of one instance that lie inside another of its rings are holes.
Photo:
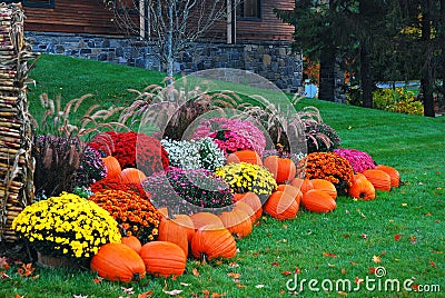
[[[374,107],[379,110],[424,115],[424,107],[412,91],[405,88],[377,89],[373,92]]]

